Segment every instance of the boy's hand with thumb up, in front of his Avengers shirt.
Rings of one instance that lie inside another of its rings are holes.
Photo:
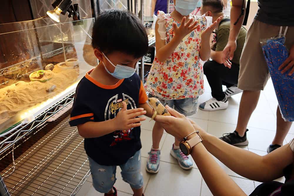
[[[119,111],[114,118],[115,130],[128,130],[140,126],[140,121],[146,120],[146,118],[136,117],[144,114],[146,114],[146,111],[143,108],[127,110],[127,104],[123,102],[123,107],[121,108],[121,111]]]

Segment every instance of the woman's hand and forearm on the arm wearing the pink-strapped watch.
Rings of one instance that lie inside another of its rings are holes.
[[[173,116],[157,115],[156,121],[159,122],[167,133],[175,136],[178,140],[183,140],[184,136],[195,131],[190,121],[182,114],[166,107]],[[175,117],[174,117],[175,116]],[[188,137],[193,138],[195,133]],[[192,148],[192,158],[197,164],[206,184],[213,195],[218,196],[245,196],[246,194],[240,187],[226,174],[223,169],[212,158],[202,143]]]

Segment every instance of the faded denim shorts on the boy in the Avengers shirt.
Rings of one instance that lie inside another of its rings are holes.
[[[116,182],[116,165],[99,165],[93,159],[89,158],[90,170],[93,179],[93,187],[101,193],[108,193]],[[123,181],[131,185],[133,189],[143,187],[143,176],[141,173],[141,150],[138,150],[121,167],[121,176]]]

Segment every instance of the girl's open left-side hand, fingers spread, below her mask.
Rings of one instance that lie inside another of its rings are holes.
[[[175,22],[173,23],[173,31],[175,32],[175,36],[180,38],[181,40],[186,35],[188,35],[189,33],[191,33],[192,31],[194,31],[200,26],[198,24],[198,21],[193,22],[194,19],[192,18],[186,24],[185,24],[185,21],[186,21],[186,17],[183,17],[181,25],[179,27],[177,26]]]

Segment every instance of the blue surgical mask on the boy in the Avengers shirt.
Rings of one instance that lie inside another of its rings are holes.
[[[117,78],[117,79],[123,79],[123,78],[129,78],[131,76],[134,75],[134,73],[136,72],[136,68],[138,66],[138,63],[136,64],[136,68],[131,68],[131,67],[128,67],[128,66],[123,66],[123,65],[114,65],[107,57],[104,53],[102,53],[104,55],[104,57],[107,59],[107,61],[113,66],[115,67],[113,73],[110,73],[108,71],[108,69],[106,68],[105,64],[103,63],[103,66],[105,68],[105,70],[107,71],[107,73],[109,73],[111,76]]]

